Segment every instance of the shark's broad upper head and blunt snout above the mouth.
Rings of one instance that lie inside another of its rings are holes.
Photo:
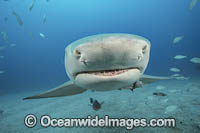
[[[129,70],[128,75],[141,74],[148,64],[150,44],[139,37],[101,36],[79,43],[66,49],[65,66],[71,79],[84,73],[105,76]]]

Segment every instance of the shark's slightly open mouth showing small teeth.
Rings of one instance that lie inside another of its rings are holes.
[[[132,67],[132,68],[113,69],[113,70],[83,71],[83,72],[76,73],[76,76],[78,76],[79,74],[92,74],[92,75],[97,75],[97,76],[116,76],[116,75],[120,75],[122,73],[128,72],[129,70],[133,70],[133,69],[138,69],[141,72],[141,68]]]

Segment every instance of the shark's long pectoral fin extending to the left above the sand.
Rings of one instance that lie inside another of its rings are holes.
[[[68,81],[54,89],[46,91],[44,93],[26,97],[26,99],[40,99],[40,98],[50,98],[50,97],[61,97],[61,96],[71,96],[75,94],[79,94],[86,91],[86,89],[82,89],[76,86],[72,81]]]

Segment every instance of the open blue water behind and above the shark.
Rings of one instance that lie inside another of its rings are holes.
[[[200,2],[190,10],[191,0],[31,0],[0,1],[0,95],[47,90],[69,80],[64,67],[65,47],[80,38],[100,33],[129,33],[151,42],[145,73],[168,76],[172,67],[186,77],[199,77]],[[20,26],[12,14],[23,21]],[[46,23],[43,24],[43,16]],[[7,20],[5,20],[5,18]],[[43,33],[46,38],[42,38]],[[32,38],[32,34],[34,37]],[[177,36],[184,36],[173,44]],[[186,55],[175,60],[175,55]]]

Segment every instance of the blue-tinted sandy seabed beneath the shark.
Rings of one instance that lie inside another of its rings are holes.
[[[19,92],[0,96],[1,133],[199,133],[200,132],[200,78],[189,80],[159,81],[143,88],[115,90],[108,92],[86,91],[68,97],[22,100],[24,97],[40,93],[38,91]],[[166,96],[153,95],[162,92]],[[89,106],[90,98],[104,101],[98,111]],[[44,128],[37,124],[28,128],[24,117],[34,114],[38,118],[50,115],[52,118],[87,118],[88,115],[103,118],[175,118],[176,127],[126,128]]]

